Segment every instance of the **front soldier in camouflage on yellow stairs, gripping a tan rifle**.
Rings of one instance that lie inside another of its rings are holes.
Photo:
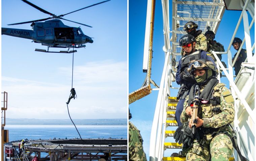
[[[174,139],[182,142],[186,160],[228,161],[233,151],[232,130],[228,125],[234,120],[233,97],[224,84],[218,83],[217,70],[211,61],[192,60],[188,71],[194,75],[200,87],[196,132],[192,134],[190,119],[193,112],[190,106],[194,100],[193,86],[181,114],[183,128],[179,127],[175,131]]]

